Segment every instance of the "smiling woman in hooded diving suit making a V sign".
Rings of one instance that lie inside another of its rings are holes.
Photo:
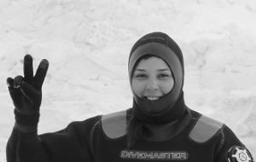
[[[38,136],[41,87],[48,65],[47,60],[41,61],[33,77],[32,57],[26,55],[24,77],[7,79],[15,104],[8,162],[253,161],[225,124],[186,107],[183,54],[163,32],[143,36],[131,49],[131,108]]]

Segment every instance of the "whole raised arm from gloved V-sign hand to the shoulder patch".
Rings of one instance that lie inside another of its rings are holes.
[[[8,78],[9,93],[15,105],[15,127],[9,137],[8,162],[93,162],[90,130],[99,117],[73,122],[66,129],[38,136],[42,85],[48,69],[40,62],[33,76],[32,56],[24,58],[24,78]]]

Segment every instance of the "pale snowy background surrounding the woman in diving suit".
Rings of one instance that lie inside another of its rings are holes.
[[[131,107],[127,61],[148,32],[174,38],[187,105],[228,124],[256,156],[256,2],[253,0],[1,0],[0,161],[14,124],[5,79],[47,58],[39,133]]]

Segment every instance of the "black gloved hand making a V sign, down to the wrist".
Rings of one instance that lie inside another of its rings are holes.
[[[42,85],[49,67],[44,59],[33,76],[32,56],[24,57],[24,77],[7,78],[9,94],[15,105],[15,120],[21,125],[38,124],[39,108],[42,101]]]

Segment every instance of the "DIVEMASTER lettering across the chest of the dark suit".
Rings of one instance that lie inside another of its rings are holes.
[[[143,159],[143,160],[186,160],[189,153],[185,151],[137,151],[122,150],[122,159]]]

